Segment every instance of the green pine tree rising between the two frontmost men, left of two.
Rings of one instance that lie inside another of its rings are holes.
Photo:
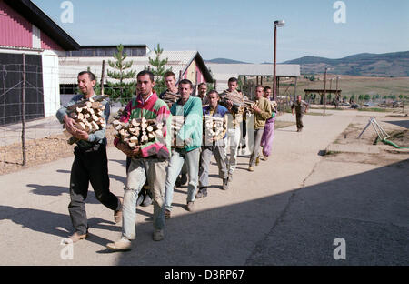
[[[105,90],[105,95],[108,95],[111,100],[118,100],[124,106],[135,95],[136,89],[136,71],[128,70],[132,66],[131,61],[125,61],[127,55],[124,52],[124,46],[116,46],[118,52],[114,53],[115,61],[108,60],[108,65],[115,69],[114,71],[107,70],[106,74],[109,78],[115,81],[106,80],[108,87]]]

